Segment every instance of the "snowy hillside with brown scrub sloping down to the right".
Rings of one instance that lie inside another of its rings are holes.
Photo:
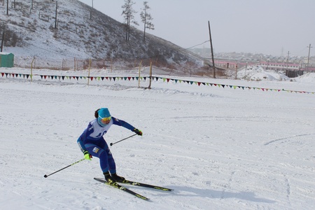
[[[15,2],[15,3],[14,3]],[[151,59],[160,64],[200,66],[197,55],[157,36],[132,29],[77,0],[0,0],[3,52],[44,59]],[[33,4],[32,4],[33,2]]]

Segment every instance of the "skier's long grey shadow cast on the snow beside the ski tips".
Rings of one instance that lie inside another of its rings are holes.
[[[210,197],[216,199],[226,199],[226,198],[238,198],[239,200],[248,200],[251,202],[263,202],[263,203],[275,203],[274,200],[268,200],[265,198],[256,197],[255,193],[252,192],[228,192],[226,190],[210,190],[210,189],[198,189],[190,187],[181,186],[169,186],[169,188],[174,189],[174,194],[183,197]]]

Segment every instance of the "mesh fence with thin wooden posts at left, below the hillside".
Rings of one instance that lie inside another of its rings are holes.
[[[15,78],[30,82],[102,85],[111,89],[150,88],[151,66],[104,60],[15,59],[12,68],[0,68],[0,81]]]

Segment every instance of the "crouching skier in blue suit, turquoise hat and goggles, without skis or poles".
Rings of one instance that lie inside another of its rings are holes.
[[[99,158],[107,183],[115,185],[116,182],[123,182],[125,178],[116,174],[116,164],[103,135],[109,131],[111,125],[123,126],[139,136],[142,136],[142,132],[129,123],[111,116],[107,108],[97,109],[94,116],[95,119],[87,125],[83,134],[78,138],[78,146],[83,152],[85,160],[91,160],[92,156]]]

